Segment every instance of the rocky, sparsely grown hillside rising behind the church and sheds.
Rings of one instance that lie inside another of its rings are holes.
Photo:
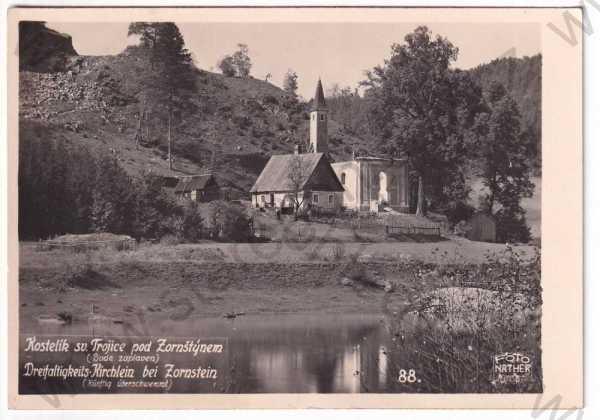
[[[308,141],[308,104],[253,78],[196,71],[191,105],[173,127],[174,170],[168,169],[166,122],[146,115],[140,124],[140,78],[149,71],[129,47],[115,56],[66,56],[63,71],[20,72],[21,136],[85,142],[117,156],[132,175],[213,171],[222,185],[245,194],[269,156]],[[334,159],[347,158],[363,140],[330,123]],[[364,146],[363,146],[364,148]]]

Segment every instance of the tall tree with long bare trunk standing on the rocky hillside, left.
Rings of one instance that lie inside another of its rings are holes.
[[[140,116],[148,106],[166,113],[168,161],[169,169],[173,169],[173,116],[189,103],[190,93],[195,90],[192,56],[185,48],[179,28],[172,22],[133,22],[128,35],[140,37],[139,46],[146,53],[151,69],[142,75],[144,97],[140,101]]]

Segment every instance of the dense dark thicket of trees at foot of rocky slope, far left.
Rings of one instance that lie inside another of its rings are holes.
[[[92,154],[62,138],[48,139],[46,130],[21,127],[20,239],[94,231],[200,239],[203,220],[197,204],[176,203],[163,189],[161,177],[147,173],[134,180],[113,155]]]

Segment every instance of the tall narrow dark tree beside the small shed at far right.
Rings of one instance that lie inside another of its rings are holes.
[[[498,239],[529,239],[521,198],[531,197],[531,161],[535,157],[527,131],[521,130],[521,115],[504,86],[493,83],[487,92],[487,109],[477,116],[473,127],[480,164],[477,175],[487,192],[481,207],[495,215]]]

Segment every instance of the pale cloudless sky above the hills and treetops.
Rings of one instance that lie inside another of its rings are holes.
[[[282,85],[288,69],[298,74],[298,93],[314,95],[318,78],[325,90],[337,83],[354,88],[365,70],[389,58],[393,43],[417,26],[459,48],[454,67],[468,69],[501,56],[531,56],[541,52],[540,28],[535,23],[177,23],[196,65],[218,72],[216,63],[248,45],[251,74]],[[47,26],[73,38],[81,55],[118,54],[137,42],[127,37],[127,23],[48,22]]]

